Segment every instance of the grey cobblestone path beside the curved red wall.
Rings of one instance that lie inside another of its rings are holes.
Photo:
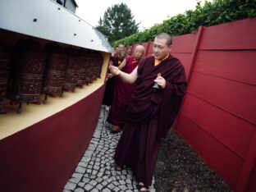
[[[129,168],[115,171],[113,167],[113,156],[121,132],[110,132],[112,125],[106,121],[108,112],[108,108],[102,106],[93,138],[63,192],[139,191],[138,183]],[[155,192],[153,185],[149,190]]]

